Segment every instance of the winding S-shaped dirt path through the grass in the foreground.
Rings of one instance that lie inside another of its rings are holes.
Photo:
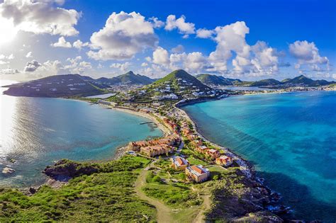
[[[141,188],[146,183],[146,176],[148,171],[142,170],[138,176],[137,181],[135,181],[135,193],[142,199],[154,205],[157,209],[157,222],[173,222],[172,220],[172,210],[164,205],[162,202],[155,200],[153,198],[147,197],[145,193],[142,192]]]

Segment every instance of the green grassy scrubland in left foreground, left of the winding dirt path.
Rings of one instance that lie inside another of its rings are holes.
[[[124,156],[92,164],[98,173],[73,178],[57,190],[44,185],[32,196],[2,188],[0,222],[155,222],[155,207],[134,193],[138,173],[148,162]]]

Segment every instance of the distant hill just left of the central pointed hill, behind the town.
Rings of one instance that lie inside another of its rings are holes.
[[[108,79],[106,77],[102,77],[100,79],[96,79],[96,81],[99,81],[103,84],[110,84],[110,85],[117,85],[117,84],[151,84],[154,82],[153,79],[150,79],[147,76],[143,76],[140,74],[134,74],[133,72],[127,72],[125,74],[121,74],[119,76],[115,76],[111,79]]]

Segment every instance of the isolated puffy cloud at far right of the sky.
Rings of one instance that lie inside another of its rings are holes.
[[[329,59],[320,56],[318,47],[316,47],[314,42],[298,40],[289,45],[289,52],[298,59],[298,63],[295,66],[296,69],[300,69],[305,64],[308,64],[308,67],[313,71],[320,71],[319,65],[321,64],[327,64],[327,69],[329,69]]]

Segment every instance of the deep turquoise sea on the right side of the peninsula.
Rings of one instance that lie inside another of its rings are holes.
[[[200,131],[251,161],[298,219],[336,221],[336,92],[233,96],[184,107]]]

